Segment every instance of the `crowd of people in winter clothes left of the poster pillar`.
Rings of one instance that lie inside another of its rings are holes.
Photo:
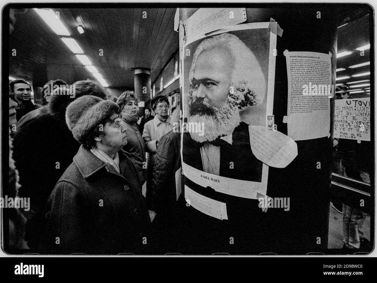
[[[7,193],[30,202],[28,213],[17,208],[10,217],[12,250],[177,252],[178,204],[185,203],[176,201],[179,109],[169,116],[169,100],[156,96],[155,116],[146,108],[139,117],[133,91],[114,101],[95,81],[75,82],[69,95],[58,94],[64,81],[44,88],[50,85],[59,87],[42,106],[32,102],[28,82],[9,84]]]

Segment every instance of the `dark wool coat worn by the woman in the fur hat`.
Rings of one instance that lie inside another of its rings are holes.
[[[151,239],[145,198],[126,152],[121,150],[118,154],[120,173],[81,146],[56,184],[46,205],[46,215],[51,231],[48,241],[55,243],[59,237],[60,243],[55,245],[58,251],[146,252]]]

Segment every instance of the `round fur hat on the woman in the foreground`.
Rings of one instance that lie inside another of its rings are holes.
[[[85,95],[68,105],[66,123],[74,138],[83,143],[84,138],[90,135],[103,119],[118,111],[119,106],[111,100]]]

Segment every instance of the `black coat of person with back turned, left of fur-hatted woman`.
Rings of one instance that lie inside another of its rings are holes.
[[[13,158],[20,175],[21,197],[30,198],[31,209],[41,211],[56,182],[72,163],[80,143],[65,122],[69,96],[54,96],[48,111],[33,115],[13,137]]]

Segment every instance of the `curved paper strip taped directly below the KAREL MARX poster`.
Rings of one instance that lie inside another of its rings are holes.
[[[207,198],[185,185],[185,200],[193,208],[199,210],[206,215],[215,217],[217,219],[228,219],[227,204],[225,202],[216,201],[215,199]]]

